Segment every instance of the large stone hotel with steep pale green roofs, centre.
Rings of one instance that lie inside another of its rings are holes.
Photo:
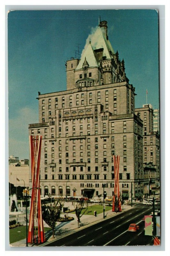
[[[143,195],[143,120],[135,114],[135,87],[101,21],[81,59],[66,62],[67,90],[40,94],[41,193],[88,196],[114,191],[113,155],[120,155],[120,192]],[[150,128],[149,128],[150,129]],[[151,128],[152,129],[152,128]]]

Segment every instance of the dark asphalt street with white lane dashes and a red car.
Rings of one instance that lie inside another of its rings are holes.
[[[144,215],[151,214],[152,206],[136,204],[132,210],[81,229],[43,246],[118,246],[153,245],[152,236],[144,235]],[[139,225],[139,230],[129,232],[131,223]]]

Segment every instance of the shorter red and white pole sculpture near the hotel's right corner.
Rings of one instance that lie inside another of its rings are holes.
[[[120,202],[120,190],[119,190],[119,162],[120,156],[113,156],[114,163],[114,196],[113,196],[113,205],[112,212],[121,212],[121,202]],[[115,206],[115,197],[117,200],[117,209]]]

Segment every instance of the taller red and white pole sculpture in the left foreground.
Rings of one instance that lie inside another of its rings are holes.
[[[28,227],[28,243],[36,243],[38,236],[38,244],[45,242],[43,218],[41,211],[40,198],[40,156],[41,156],[42,136],[29,136],[30,157],[31,157],[31,179],[32,179],[32,195],[31,207],[29,215]],[[37,231],[36,231],[37,230]]]

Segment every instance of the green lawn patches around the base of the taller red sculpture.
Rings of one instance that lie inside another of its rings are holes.
[[[44,232],[50,229],[51,228],[44,228]],[[18,242],[24,238],[26,238],[26,226],[10,229],[10,244]]]

